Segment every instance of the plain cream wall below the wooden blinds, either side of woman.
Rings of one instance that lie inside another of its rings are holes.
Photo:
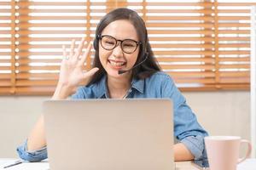
[[[249,139],[250,94],[241,92],[186,92],[188,104],[212,135]],[[0,157],[15,157],[49,97],[0,97]]]

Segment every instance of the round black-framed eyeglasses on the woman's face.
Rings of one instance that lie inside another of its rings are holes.
[[[102,48],[106,50],[113,50],[113,48],[118,46],[118,42],[120,42],[120,47],[125,54],[132,54],[136,51],[137,46],[142,44],[142,42],[137,42],[131,39],[117,40],[108,35],[98,35],[98,38],[101,41]]]

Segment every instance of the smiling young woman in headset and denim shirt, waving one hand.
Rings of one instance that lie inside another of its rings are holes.
[[[207,132],[197,122],[172,78],[160,71],[145,24],[135,11],[117,8],[104,16],[96,28],[93,46],[94,66],[87,72],[83,71],[83,65],[91,45],[84,54],[84,38],[78,48],[73,41],[68,54],[63,47],[61,73],[52,99],[67,99],[81,82],[85,85],[78,88],[72,99],[170,98],[174,104],[174,134],[179,140],[174,145],[175,160],[206,156]],[[47,158],[43,116],[17,150],[20,158],[27,161]]]

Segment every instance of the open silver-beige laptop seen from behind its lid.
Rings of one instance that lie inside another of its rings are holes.
[[[170,99],[44,102],[50,170],[174,170]]]

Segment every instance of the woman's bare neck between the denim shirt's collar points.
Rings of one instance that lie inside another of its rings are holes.
[[[113,99],[123,99],[131,88],[131,78],[108,77],[108,93]]]

